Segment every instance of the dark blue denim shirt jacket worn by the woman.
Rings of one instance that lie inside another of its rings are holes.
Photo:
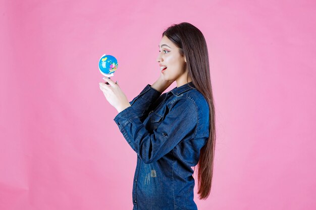
[[[192,82],[161,94],[149,84],[114,121],[137,153],[133,209],[197,209],[193,169],[209,130],[209,109]]]

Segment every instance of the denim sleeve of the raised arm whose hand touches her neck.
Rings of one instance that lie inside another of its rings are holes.
[[[155,90],[151,85],[147,84],[146,87],[136,96],[130,103],[134,113],[143,122],[147,116],[149,106],[159,98],[162,93]]]

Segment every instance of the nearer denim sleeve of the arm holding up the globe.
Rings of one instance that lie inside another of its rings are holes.
[[[159,160],[182,139],[192,138],[198,123],[197,109],[191,99],[178,99],[160,125],[148,132],[133,107],[118,113],[114,121],[131,148],[145,163]]]

